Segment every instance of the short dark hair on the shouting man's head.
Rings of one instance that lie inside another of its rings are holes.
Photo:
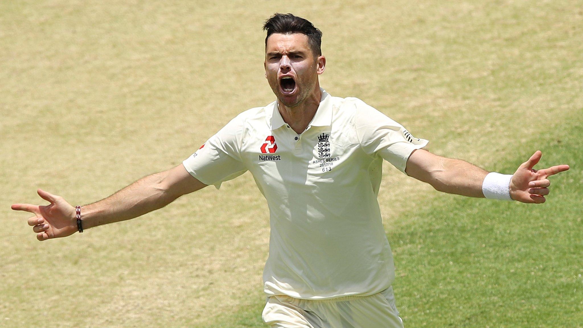
[[[291,13],[275,13],[265,21],[263,30],[267,31],[265,37],[265,47],[267,39],[273,33],[293,34],[301,33],[308,37],[308,44],[315,55],[322,55],[322,31],[318,30],[309,20],[294,16]]]

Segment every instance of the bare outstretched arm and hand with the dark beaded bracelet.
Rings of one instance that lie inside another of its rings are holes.
[[[206,187],[190,175],[182,164],[154,173],[130,184],[117,193],[81,208],[83,229],[139,217],[164,207],[176,198]],[[13,204],[12,210],[27,211],[38,240],[70,236],[77,231],[75,207],[64,198],[37,190],[49,205]]]

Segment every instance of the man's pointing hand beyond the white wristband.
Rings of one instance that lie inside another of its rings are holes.
[[[548,169],[535,170],[542,152],[536,151],[531,158],[522,163],[510,180],[510,197],[522,203],[545,203],[549,194],[550,181],[547,177],[569,169],[568,165],[551,166]]]

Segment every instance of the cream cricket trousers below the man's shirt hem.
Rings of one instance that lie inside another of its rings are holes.
[[[319,301],[269,296],[262,318],[274,328],[403,328],[392,287],[370,296]]]

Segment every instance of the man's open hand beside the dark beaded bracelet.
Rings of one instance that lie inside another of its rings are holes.
[[[27,211],[34,214],[29,218],[28,223],[33,226],[33,231],[37,233],[40,241],[71,236],[77,230],[75,219],[75,207],[67,203],[63,197],[56,196],[41,189],[37,190],[38,196],[50,205],[13,204],[12,210]]]

